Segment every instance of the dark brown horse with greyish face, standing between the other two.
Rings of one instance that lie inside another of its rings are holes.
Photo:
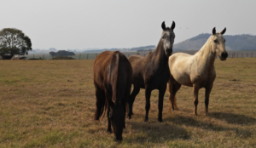
[[[154,89],[159,90],[159,115],[158,121],[162,122],[163,99],[166,93],[166,83],[170,78],[168,67],[168,57],[172,54],[172,46],[174,43],[175,22],[172,22],[171,28],[166,27],[165,22],[162,23],[162,35],[157,48],[146,57],[140,55],[132,55],[128,58],[132,67],[132,84],[133,91],[130,95],[128,118],[131,118],[132,105],[140,88],[145,88],[146,96],[146,115],[145,122],[148,122],[148,111],[150,108],[150,95]]]

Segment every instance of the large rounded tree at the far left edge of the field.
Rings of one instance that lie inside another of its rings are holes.
[[[22,31],[15,28],[4,28],[0,31],[0,54],[24,55],[32,50],[32,43]]]

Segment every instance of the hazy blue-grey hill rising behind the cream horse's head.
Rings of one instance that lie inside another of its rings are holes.
[[[211,34],[200,34],[182,43],[173,45],[174,50],[199,50]],[[224,35],[226,39],[226,50],[256,50],[256,36],[252,35]]]

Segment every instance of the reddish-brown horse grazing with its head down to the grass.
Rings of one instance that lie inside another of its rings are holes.
[[[108,132],[121,141],[125,128],[126,103],[131,93],[131,64],[119,51],[104,51],[93,66],[96,88],[95,120],[108,110]],[[112,128],[111,128],[112,126]]]

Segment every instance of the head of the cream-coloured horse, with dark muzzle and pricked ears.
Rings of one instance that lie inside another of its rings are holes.
[[[215,27],[212,29],[211,36],[211,48],[212,52],[216,53],[220,60],[226,60],[228,57],[228,53],[225,49],[225,39],[222,35],[224,35],[226,28],[223,31],[217,33]]]

